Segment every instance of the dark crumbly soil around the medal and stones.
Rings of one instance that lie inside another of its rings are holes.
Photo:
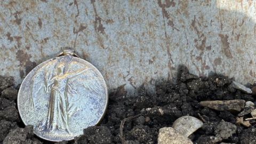
[[[226,76],[198,77],[183,66],[178,74],[175,84],[165,81],[156,85],[156,94],[147,93],[141,86],[138,95],[126,97],[123,86],[118,87],[109,94],[107,113],[99,126],[88,127],[75,140],[60,143],[157,143],[158,130],[172,126],[175,119],[185,115],[204,122],[189,138],[194,143],[212,143],[211,138],[218,135],[221,120],[236,124],[237,113],[201,107],[198,102],[243,99],[255,103],[252,95],[231,87],[232,79]],[[37,138],[31,127],[22,124],[13,79],[0,77],[0,82],[0,143],[3,140],[4,143],[50,143]],[[162,109],[162,113],[158,109]],[[249,115],[244,118],[250,118]],[[222,142],[256,143],[256,123],[254,120],[250,123],[249,128],[236,124],[236,132]]]

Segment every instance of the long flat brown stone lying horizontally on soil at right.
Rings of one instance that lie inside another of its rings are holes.
[[[245,100],[214,100],[214,101],[201,101],[199,103],[203,107],[209,107],[211,109],[230,112],[241,111],[245,106]]]

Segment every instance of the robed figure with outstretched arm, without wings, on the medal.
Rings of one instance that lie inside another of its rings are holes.
[[[46,92],[51,91],[48,117],[46,121],[47,130],[66,130],[68,127],[68,79],[82,74],[86,69],[78,69],[73,73],[64,72],[65,64],[57,65],[57,75],[51,78],[50,84],[46,85]]]

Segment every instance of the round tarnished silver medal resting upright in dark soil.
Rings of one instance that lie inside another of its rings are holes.
[[[108,92],[97,68],[73,50],[64,50],[30,71],[17,102],[22,121],[33,125],[38,137],[62,141],[101,121]]]

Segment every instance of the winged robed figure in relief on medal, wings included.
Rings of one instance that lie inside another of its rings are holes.
[[[35,73],[29,86],[29,107],[35,109],[40,97],[49,99],[44,131],[69,131],[69,118],[79,111],[79,101],[83,97],[102,93],[102,85],[95,81],[97,75],[90,68],[71,68],[69,61],[55,61],[55,65],[45,65]],[[49,71],[52,69],[52,71]],[[44,77],[38,81],[38,77]],[[83,80],[82,80],[83,79]],[[75,82],[75,83],[74,83]]]

